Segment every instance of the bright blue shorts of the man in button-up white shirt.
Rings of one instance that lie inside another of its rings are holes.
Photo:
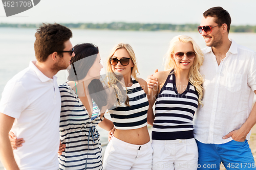
[[[256,169],[247,140],[231,140],[223,144],[208,144],[198,140],[198,169]],[[223,165],[221,165],[221,162]]]

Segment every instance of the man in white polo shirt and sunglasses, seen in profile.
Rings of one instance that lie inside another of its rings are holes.
[[[36,61],[5,86],[0,102],[0,159],[6,169],[58,169],[61,100],[56,77],[74,56],[72,32],[55,24],[42,25],[35,33]],[[25,138],[12,151],[12,131]]]

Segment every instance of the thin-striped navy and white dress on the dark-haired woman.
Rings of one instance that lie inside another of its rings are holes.
[[[90,118],[75,91],[67,83],[60,85],[59,91],[60,140],[66,144],[65,151],[59,156],[59,169],[102,169],[101,144],[95,129],[100,123],[100,111],[96,103],[92,101],[93,114]]]

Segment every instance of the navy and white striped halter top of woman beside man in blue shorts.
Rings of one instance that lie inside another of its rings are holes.
[[[157,95],[155,106],[153,140],[194,138],[193,117],[198,108],[198,93],[190,82],[179,94],[175,75],[169,75]]]

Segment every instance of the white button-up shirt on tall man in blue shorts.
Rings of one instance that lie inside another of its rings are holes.
[[[202,143],[226,143],[232,138],[222,137],[239,129],[250,114],[256,90],[256,53],[232,40],[218,65],[211,47],[203,52],[200,73],[204,77],[204,106],[195,114],[194,135]]]

